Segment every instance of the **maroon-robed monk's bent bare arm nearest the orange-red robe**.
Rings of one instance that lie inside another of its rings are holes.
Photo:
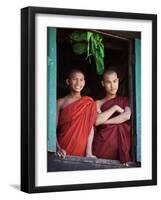
[[[95,122],[96,126],[100,124],[104,124],[111,117],[111,115],[113,115],[114,112],[117,111],[121,113],[124,111],[120,106],[114,105],[108,110],[106,110],[105,112],[101,112],[99,103],[96,102],[96,104],[97,104],[97,111],[98,111],[98,115]]]

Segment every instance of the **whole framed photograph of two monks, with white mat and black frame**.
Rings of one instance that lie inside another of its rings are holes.
[[[21,190],[157,184],[157,16],[21,9]]]

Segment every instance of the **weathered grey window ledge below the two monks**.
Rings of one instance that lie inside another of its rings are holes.
[[[128,162],[123,166],[118,160],[107,160],[90,157],[66,156],[58,158],[54,153],[48,153],[48,171],[73,171],[90,169],[114,169],[140,167],[140,163]]]

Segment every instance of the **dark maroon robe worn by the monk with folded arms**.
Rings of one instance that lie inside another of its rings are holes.
[[[106,101],[101,111],[104,112],[114,105],[121,108],[129,106],[127,97],[115,97]],[[115,112],[111,118],[117,116]],[[94,136],[93,154],[98,158],[120,160],[120,162],[130,161],[130,122],[126,121],[121,124],[100,125]]]

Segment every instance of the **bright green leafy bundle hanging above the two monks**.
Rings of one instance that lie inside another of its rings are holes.
[[[103,36],[94,32],[80,32],[75,31],[69,35],[72,43],[73,51],[77,55],[86,53],[86,59],[91,64],[93,57],[96,62],[96,71],[98,75],[103,74],[104,71],[104,44]]]

